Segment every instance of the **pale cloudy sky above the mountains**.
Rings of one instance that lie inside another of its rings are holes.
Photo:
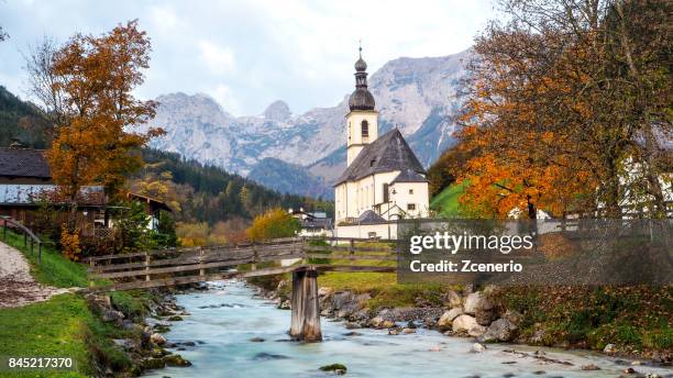
[[[23,58],[44,35],[66,41],[139,19],[152,38],[144,99],[205,92],[235,115],[274,100],[301,113],[336,104],[353,87],[357,41],[373,73],[400,56],[471,46],[496,15],[492,0],[0,0],[0,85],[26,98]]]

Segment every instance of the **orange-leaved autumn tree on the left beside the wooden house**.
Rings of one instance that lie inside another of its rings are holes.
[[[100,36],[76,34],[57,48],[45,40],[29,57],[32,91],[54,120],[52,175],[71,203],[87,185],[117,197],[125,176],[142,167],[140,148],[162,133],[141,132],[156,103],[132,94],[150,51],[146,33],[131,21]]]

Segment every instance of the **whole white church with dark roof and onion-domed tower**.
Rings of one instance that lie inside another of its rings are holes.
[[[346,168],[334,184],[336,236],[393,237],[390,223],[427,218],[426,170],[399,130],[378,135],[378,112],[367,89],[367,64],[355,62],[349,99]]]

